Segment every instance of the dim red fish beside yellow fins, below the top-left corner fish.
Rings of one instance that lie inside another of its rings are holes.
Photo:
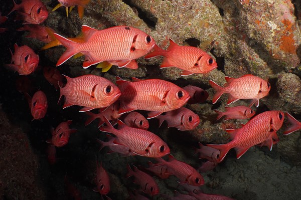
[[[49,32],[54,32],[54,30],[49,27],[24,25],[22,28],[17,29],[17,31],[29,31],[30,33],[25,38],[33,38],[44,43],[50,43],[54,40],[53,36],[49,34]]]

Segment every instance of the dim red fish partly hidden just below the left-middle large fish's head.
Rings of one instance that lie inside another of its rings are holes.
[[[115,103],[111,104],[107,108],[100,108],[99,113],[97,114],[92,112],[86,112],[89,118],[85,122],[85,126],[87,126],[97,118],[99,118],[98,127],[100,127],[104,123],[104,117],[106,117],[109,121],[117,120],[121,116],[121,114],[118,113],[119,107],[120,107],[120,103],[119,101],[116,101]]]

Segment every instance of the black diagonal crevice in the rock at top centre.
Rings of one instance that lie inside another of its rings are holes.
[[[145,24],[151,28],[155,29],[156,24],[158,22],[158,18],[156,18],[153,14],[143,11],[136,5],[134,5],[130,0],[122,0],[122,2],[132,8],[134,11],[138,12],[138,17],[145,22]]]

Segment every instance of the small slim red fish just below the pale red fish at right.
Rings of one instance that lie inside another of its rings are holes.
[[[218,114],[216,120],[219,120],[223,116],[226,116],[225,120],[229,120],[229,119],[248,119],[255,115],[255,111],[247,106],[225,107],[225,109],[226,112],[214,110]]]

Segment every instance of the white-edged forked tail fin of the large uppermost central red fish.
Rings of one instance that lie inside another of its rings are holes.
[[[75,54],[79,53],[80,51],[77,50],[76,42],[73,42],[67,38],[64,38],[63,36],[60,36],[59,34],[56,34],[56,33],[54,33],[54,36],[64,47],[67,48],[56,64],[56,66],[60,66],[63,63],[65,63],[69,58],[71,58]]]

